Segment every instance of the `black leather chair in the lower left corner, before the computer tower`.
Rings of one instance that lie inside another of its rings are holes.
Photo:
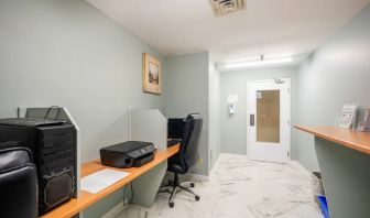
[[[0,217],[37,217],[37,176],[31,151],[0,148]]]

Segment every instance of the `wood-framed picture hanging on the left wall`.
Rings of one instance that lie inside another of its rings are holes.
[[[161,95],[161,62],[148,53],[143,53],[143,91]]]

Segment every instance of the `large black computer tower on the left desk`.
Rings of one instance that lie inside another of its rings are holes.
[[[76,128],[43,119],[0,119],[0,146],[25,146],[37,168],[39,215],[76,196]]]

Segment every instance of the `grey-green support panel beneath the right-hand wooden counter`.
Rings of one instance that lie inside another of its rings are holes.
[[[369,217],[370,155],[315,137],[330,217]]]

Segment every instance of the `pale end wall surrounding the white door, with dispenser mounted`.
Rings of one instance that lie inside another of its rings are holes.
[[[221,72],[221,152],[247,154],[247,81],[273,78],[291,78],[291,119],[296,119],[294,107],[296,105],[296,67],[273,67],[263,69],[243,69],[236,72]],[[227,97],[237,94],[239,101],[235,115],[229,115]],[[295,157],[295,139],[292,134],[292,157]]]

